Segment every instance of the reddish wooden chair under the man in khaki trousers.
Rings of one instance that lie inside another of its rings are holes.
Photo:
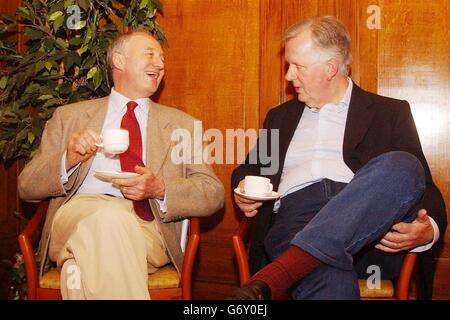
[[[33,244],[40,239],[45,221],[48,202],[42,202],[32,219],[19,235],[19,246],[22,251],[25,273],[27,278],[28,300],[59,300],[60,274],[59,270],[52,269],[39,279],[38,266]],[[200,242],[200,220],[190,218],[189,240],[181,271],[178,276],[175,267],[165,266],[152,275],[149,275],[149,292],[153,300],[190,300],[192,269]]]

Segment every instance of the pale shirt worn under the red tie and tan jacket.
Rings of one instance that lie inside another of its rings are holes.
[[[121,95],[114,88],[111,89],[111,94],[108,101],[108,110],[106,112],[105,121],[103,123],[102,133],[108,129],[120,129],[120,123],[122,117],[127,111],[127,103],[130,101],[127,97]],[[139,123],[142,136],[142,161],[146,163],[146,147],[147,147],[147,119],[150,108],[150,99],[141,98],[135,99],[138,106],[134,109],[136,119]],[[65,167],[66,154],[64,153],[61,159],[61,182],[67,183],[68,177],[78,168],[79,164],[73,167],[69,172]],[[94,176],[95,171],[108,170],[108,171],[121,171],[119,156],[113,156],[104,154],[102,149],[98,149],[92,161],[92,165],[89,168],[86,179],[81,184],[77,193],[93,193],[93,194],[110,194],[116,197],[122,197],[123,195],[118,188],[115,188],[112,183],[104,182],[97,179]],[[160,205],[162,211],[167,211],[166,198],[164,201],[156,199]]]

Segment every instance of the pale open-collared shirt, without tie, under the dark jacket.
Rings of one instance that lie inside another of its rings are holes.
[[[345,164],[343,155],[352,89],[353,82],[348,78],[347,90],[338,105],[327,103],[320,109],[305,107],[286,153],[278,188],[281,198],[323,179],[343,183],[353,179],[354,173]],[[274,211],[279,206],[280,200],[275,203]],[[430,221],[433,241],[412,252],[426,251],[439,239],[439,228],[433,218]]]

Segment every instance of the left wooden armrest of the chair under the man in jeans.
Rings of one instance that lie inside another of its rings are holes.
[[[245,238],[247,237],[250,227],[253,223],[253,218],[242,218],[236,232],[233,235],[233,249],[236,254],[236,260],[239,269],[239,283],[242,286],[250,279],[250,268],[248,265],[247,247],[245,245]]]

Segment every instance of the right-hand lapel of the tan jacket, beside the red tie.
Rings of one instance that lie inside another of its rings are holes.
[[[147,120],[147,167],[156,175],[161,169],[171,145],[170,119],[151,101]]]

